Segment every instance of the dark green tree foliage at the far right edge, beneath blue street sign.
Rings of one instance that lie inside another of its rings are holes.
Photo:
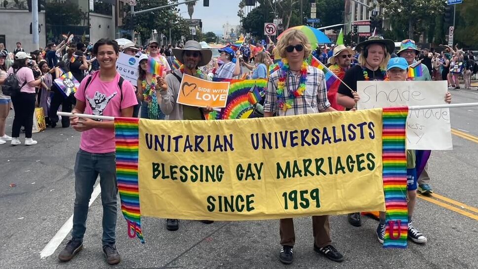
[[[463,1],[456,4],[454,43],[459,47],[474,47],[478,44],[478,1]]]

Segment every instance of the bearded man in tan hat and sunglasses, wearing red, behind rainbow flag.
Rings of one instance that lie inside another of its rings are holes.
[[[344,35],[342,30],[337,38],[337,46],[334,48],[332,57],[328,59],[330,71],[332,71],[339,79],[344,79],[345,72],[350,68],[354,51],[344,45]],[[337,91],[340,86],[340,80],[336,80],[334,84],[327,89],[327,98],[330,105],[337,110],[345,110],[342,105],[337,104]]]

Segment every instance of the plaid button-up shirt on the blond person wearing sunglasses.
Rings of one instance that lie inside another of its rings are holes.
[[[293,91],[299,87],[300,75],[292,74],[290,71],[287,76],[285,88]],[[302,115],[319,113],[330,106],[327,99],[327,88],[325,86],[325,76],[321,70],[309,66],[307,70],[307,81],[304,95],[296,97],[292,108],[283,110],[278,107],[277,102],[277,84],[282,71],[279,69],[269,76],[267,84],[266,97],[264,101],[264,112],[278,113],[279,116]],[[286,89],[284,89],[286,91]],[[285,98],[284,98],[285,102]]]

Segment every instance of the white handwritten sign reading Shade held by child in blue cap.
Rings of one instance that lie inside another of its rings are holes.
[[[358,109],[446,104],[446,81],[358,81]],[[449,108],[411,110],[407,149],[451,150]]]

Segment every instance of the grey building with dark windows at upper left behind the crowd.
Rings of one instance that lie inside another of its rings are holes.
[[[74,42],[115,38],[119,0],[44,0],[39,12],[40,47],[59,43],[74,34]],[[14,22],[14,23],[12,23]],[[32,13],[27,0],[3,0],[0,5],[0,42],[10,51],[21,42],[27,52],[35,50],[30,34]]]

